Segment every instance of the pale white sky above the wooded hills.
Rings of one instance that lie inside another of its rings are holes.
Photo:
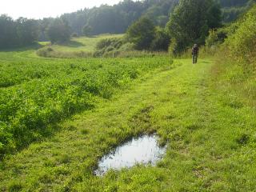
[[[121,0],[2,0],[0,14],[16,19],[58,17],[84,8],[114,5]]]

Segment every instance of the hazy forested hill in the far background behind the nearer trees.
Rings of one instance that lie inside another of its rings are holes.
[[[215,0],[222,6],[224,22],[231,22],[247,10],[254,0]],[[130,24],[142,16],[151,18],[158,26],[165,26],[178,0],[124,0],[114,6],[102,5],[92,9],[63,14],[73,33],[82,34],[83,26],[91,26],[91,34],[124,33]]]

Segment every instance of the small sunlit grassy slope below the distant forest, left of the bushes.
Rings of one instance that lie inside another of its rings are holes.
[[[101,34],[93,37],[71,38],[70,42],[63,45],[50,46],[55,51],[86,51],[93,52],[97,42],[105,38],[122,38],[123,34]]]

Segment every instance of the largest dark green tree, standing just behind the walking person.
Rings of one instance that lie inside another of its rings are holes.
[[[181,0],[167,24],[170,37],[176,42],[175,51],[180,53],[188,46],[205,43],[210,29],[221,26],[220,6],[212,0]]]

